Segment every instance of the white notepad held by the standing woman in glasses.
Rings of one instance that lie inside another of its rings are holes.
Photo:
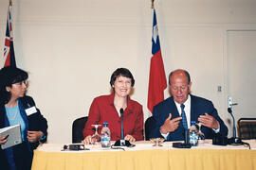
[[[9,135],[8,141],[6,144],[1,144],[2,149],[22,143],[20,125],[0,128],[0,136],[3,137],[7,135]]]

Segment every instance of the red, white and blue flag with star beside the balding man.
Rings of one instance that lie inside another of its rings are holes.
[[[156,104],[164,100],[164,90],[167,87],[164,71],[163,59],[160,49],[158,28],[154,8],[153,35],[152,35],[152,54],[150,63],[148,109],[153,112]]]

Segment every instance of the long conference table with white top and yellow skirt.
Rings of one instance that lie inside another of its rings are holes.
[[[85,145],[89,150],[64,150],[64,144],[43,144],[34,150],[32,170],[255,170],[256,140],[245,145],[213,145],[211,140],[192,148],[174,148],[172,142],[153,146],[136,142],[135,147],[103,149],[100,144]],[[68,145],[68,144],[67,144]]]

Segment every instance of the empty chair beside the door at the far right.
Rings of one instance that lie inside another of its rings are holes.
[[[237,124],[239,138],[242,140],[256,139],[256,118],[241,118]]]

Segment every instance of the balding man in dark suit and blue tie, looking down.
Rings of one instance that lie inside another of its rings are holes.
[[[192,82],[185,70],[174,70],[169,76],[171,97],[154,107],[155,126],[150,138],[164,137],[166,141],[184,140],[184,130],[191,122],[201,123],[206,138],[214,133],[228,135],[228,127],[210,100],[190,94]]]

